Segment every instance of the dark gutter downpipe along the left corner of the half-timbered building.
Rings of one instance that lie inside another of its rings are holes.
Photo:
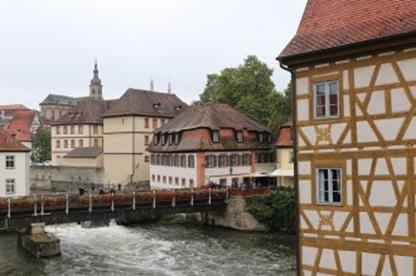
[[[302,275],[302,261],[301,261],[301,246],[300,246],[300,212],[299,212],[299,178],[298,178],[298,136],[297,136],[297,104],[296,104],[296,76],[295,73],[288,67],[285,66],[279,59],[280,68],[287,71],[291,75],[292,81],[292,131],[293,131],[293,170],[294,170],[294,183],[295,183],[295,194],[296,194],[296,269],[297,275]]]

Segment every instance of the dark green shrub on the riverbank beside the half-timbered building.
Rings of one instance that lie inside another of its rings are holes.
[[[296,231],[296,196],[289,188],[246,198],[247,211],[271,231]]]

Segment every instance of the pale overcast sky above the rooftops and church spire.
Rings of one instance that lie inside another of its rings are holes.
[[[249,54],[289,75],[276,56],[296,32],[306,0],[2,0],[0,104],[31,108],[48,93],[88,95],[95,58],[106,99],[127,88],[198,99],[206,75]]]

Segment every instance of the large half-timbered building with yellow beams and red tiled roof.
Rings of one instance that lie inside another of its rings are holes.
[[[416,2],[309,0],[295,84],[300,275],[416,275]]]

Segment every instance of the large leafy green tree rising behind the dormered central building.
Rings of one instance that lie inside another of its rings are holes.
[[[200,99],[229,104],[276,133],[291,114],[291,87],[277,92],[272,75],[273,69],[256,56],[248,56],[238,67],[209,74]]]

